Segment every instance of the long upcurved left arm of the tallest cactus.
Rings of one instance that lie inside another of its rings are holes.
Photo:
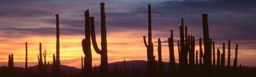
[[[96,42],[94,22],[91,23],[91,42],[92,42],[92,46],[93,46],[95,52],[97,54],[101,54],[101,50],[99,49],[97,42]]]

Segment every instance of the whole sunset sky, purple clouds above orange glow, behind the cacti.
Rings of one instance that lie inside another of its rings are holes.
[[[105,2],[109,63],[123,60],[146,60],[143,36],[147,37],[147,4],[152,8],[154,55],[157,38],[162,40],[162,59],[169,61],[167,38],[174,31],[175,58],[180,19],[188,34],[203,37],[201,14],[208,13],[210,38],[216,50],[231,40],[231,63],[235,44],[238,64],[256,67],[256,0],[0,0],[0,66],[7,66],[8,55],[14,54],[14,66],[25,67],[25,42],[28,42],[28,65],[37,65],[39,43],[52,63],[56,51],[55,14],[60,23],[60,59],[62,65],[81,68],[84,56],[84,11],[95,17],[96,40],[100,46],[100,2]],[[100,55],[93,47],[93,65],[100,64]],[[227,57],[227,54],[226,54]],[[226,58],[227,59],[227,58]],[[231,64],[231,65],[232,65]]]

